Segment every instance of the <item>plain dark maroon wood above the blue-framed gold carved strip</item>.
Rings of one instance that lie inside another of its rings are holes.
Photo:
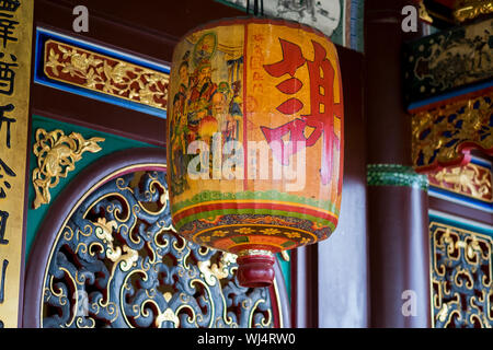
[[[214,0],[36,0],[37,24],[73,35],[77,5],[89,10],[90,26],[83,37],[165,61],[180,37],[198,24],[244,14]]]

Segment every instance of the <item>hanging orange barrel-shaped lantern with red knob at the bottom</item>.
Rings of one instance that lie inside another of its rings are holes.
[[[265,19],[188,33],[168,104],[177,233],[237,254],[240,284],[270,285],[274,254],[337,224],[343,110],[336,49],[322,33]]]

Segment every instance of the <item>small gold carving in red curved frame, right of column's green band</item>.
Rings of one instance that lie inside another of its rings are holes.
[[[429,185],[474,199],[493,202],[492,173],[478,164],[446,167],[428,174]]]

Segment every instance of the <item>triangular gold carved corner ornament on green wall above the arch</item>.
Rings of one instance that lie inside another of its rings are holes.
[[[101,151],[98,142],[104,139],[85,140],[79,132],[66,136],[59,129],[49,132],[37,129],[35,137],[33,152],[37,159],[37,167],[33,171],[32,182],[36,192],[33,207],[37,209],[49,203],[49,189],[56,187],[60,178],[67,177],[67,174],[76,168],[76,162],[82,159],[82,153]]]

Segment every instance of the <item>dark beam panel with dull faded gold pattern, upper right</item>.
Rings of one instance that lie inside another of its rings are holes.
[[[443,16],[431,14],[437,21]],[[468,96],[482,91],[488,95],[488,82],[493,75],[493,19],[439,31],[403,46],[403,94],[410,110],[422,110],[426,105],[445,104],[454,96],[466,94],[458,89],[470,84],[484,88],[468,92]],[[459,93],[457,95],[456,93]],[[434,97],[434,101],[427,101]],[[427,108],[428,109],[428,108]]]

